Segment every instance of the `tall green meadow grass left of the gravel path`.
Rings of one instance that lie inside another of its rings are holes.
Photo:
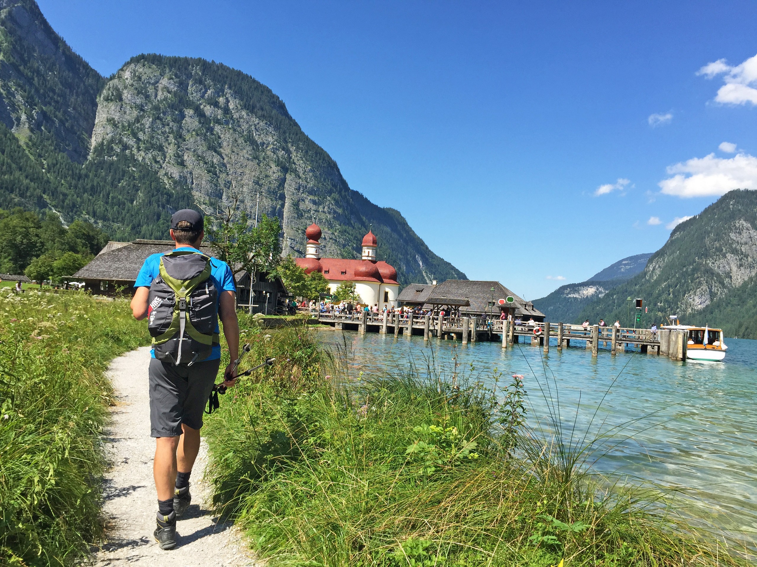
[[[0,290],[3,565],[72,565],[100,537],[104,370],[148,339],[120,299]]]

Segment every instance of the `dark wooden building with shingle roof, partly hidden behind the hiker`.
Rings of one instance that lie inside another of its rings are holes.
[[[134,240],[132,242],[109,242],[84,268],[69,279],[83,281],[84,289],[95,295],[114,295],[134,287],[139,268],[148,256],[169,252],[173,240]],[[213,248],[200,246],[200,251],[213,256]],[[250,277],[246,271],[236,275],[237,307],[250,313],[274,314],[285,312],[287,291],[278,277],[269,281],[266,277]]]

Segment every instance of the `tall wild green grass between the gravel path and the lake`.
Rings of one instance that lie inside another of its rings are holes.
[[[245,364],[277,361],[206,421],[209,474],[269,565],[742,564],[583,469],[592,447],[528,430],[516,382],[495,395],[434,364],[364,380],[304,326],[246,336]]]

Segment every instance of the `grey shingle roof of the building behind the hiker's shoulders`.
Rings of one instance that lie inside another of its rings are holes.
[[[139,268],[142,268],[148,256],[168,252],[175,246],[173,240],[134,240],[118,244],[123,246],[112,246],[110,251],[99,253],[92,262],[73,274],[72,278],[134,282]],[[200,246],[200,250],[212,256],[213,249],[210,246]]]

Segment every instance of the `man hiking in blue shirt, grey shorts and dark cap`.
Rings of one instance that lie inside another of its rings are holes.
[[[189,475],[200,450],[202,414],[220,366],[219,317],[232,361],[239,352],[234,277],[226,262],[201,253],[202,215],[192,209],[177,211],[170,234],[175,248],[145,260],[131,303],[136,319],[149,318],[153,336],[149,383],[157,488],[154,535],[163,550],[176,546],[176,518],[192,501]],[[224,386],[234,386],[231,373],[229,364]]]

